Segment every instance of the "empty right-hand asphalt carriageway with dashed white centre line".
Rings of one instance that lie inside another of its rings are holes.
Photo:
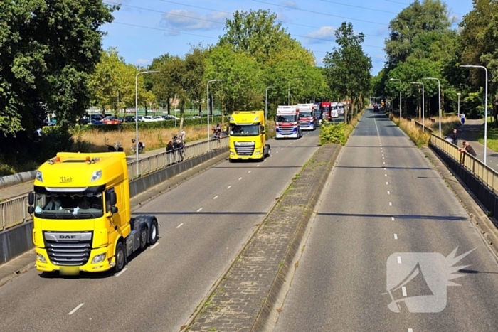
[[[364,114],[322,197],[275,331],[498,331],[496,257],[383,114]]]

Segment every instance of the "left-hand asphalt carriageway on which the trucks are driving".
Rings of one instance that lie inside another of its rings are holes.
[[[0,287],[0,331],[179,331],[317,149],[319,131],[271,140],[264,162],[224,161],[137,214],[161,239],[119,276],[45,276],[31,269]]]

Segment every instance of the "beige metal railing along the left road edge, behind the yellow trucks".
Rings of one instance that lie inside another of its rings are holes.
[[[210,141],[210,148],[217,149],[220,147],[228,146],[228,137],[223,137],[219,141],[212,139]],[[208,142],[201,141],[199,143],[185,146],[183,149],[183,160],[195,158],[201,154],[208,153]],[[139,161],[128,162],[128,176],[129,181],[139,178],[140,176],[159,171],[181,160],[180,151],[167,151],[154,156],[148,156]],[[28,214],[28,194],[9,198],[0,202],[0,231],[6,230],[9,227],[25,223],[31,220],[31,215]]]

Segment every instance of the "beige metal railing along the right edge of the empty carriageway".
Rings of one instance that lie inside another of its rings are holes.
[[[458,151],[458,147],[455,144],[452,144],[435,134],[430,135],[430,144],[440,151],[443,151],[447,156],[450,156],[451,159],[460,163],[467,171],[472,173],[472,175],[478,178],[494,193],[498,193],[497,171],[484,165],[482,161],[474,156]]]

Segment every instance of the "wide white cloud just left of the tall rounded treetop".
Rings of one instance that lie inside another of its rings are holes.
[[[199,14],[196,11],[173,9],[164,13],[160,25],[173,30],[214,30],[222,28],[230,14],[211,12]],[[171,33],[174,34],[174,33]]]

